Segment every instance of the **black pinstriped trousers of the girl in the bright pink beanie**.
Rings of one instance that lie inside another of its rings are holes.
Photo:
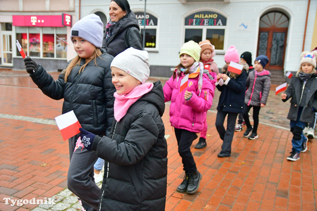
[[[227,118],[227,130],[224,129],[223,123],[224,119]],[[219,133],[220,138],[223,140],[221,146],[221,154],[230,156],[231,155],[231,143],[233,139],[233,134],[235,132],[235,124],[238,113],[224,112],[222,110],[217,111],[216,117],[216,128]]]

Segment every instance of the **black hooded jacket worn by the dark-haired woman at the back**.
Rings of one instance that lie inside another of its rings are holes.
[[[106,29],[103,36],[102,48],[106,49],[107,53],[113,56],[120,54],[130,47],[142,50],[142,38],[139,30],[138,20],[131,11],[114,26],[113,34],[108,41],[106,40],[108,29]]]

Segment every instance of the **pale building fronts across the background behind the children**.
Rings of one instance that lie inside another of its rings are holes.
[[[1,4],[6,1],[0,1],[1,26],[6,26],[11,21],[10,12],[1,9],[3,8]],[[46,11],[49,11],[50,15],[67,13],[72,16],[72,24],[74,24],[80,17],[95,13],[100,16],[104,25],[109,20],[110,0],[22,0],[16,2],[19,5],[19,11],[14,11],[14,15],[44,15],[48,13]],[[26,8],[32,8],[24,6],[29,2],[33,4],[38,2],[38,5],[41,2],[42,9],[27,10]],[[55,8],[53,5],[57,2],[63,2],[66,6]],[[170,77],[172,67],[179,64],[179,50],[184,42],[209,39],[215,45],[214,60],[220,69],[225,64],[223,55],[226,49],[235,45],[239,54],[245,51],[251,52],[253,61],[257,55],[266,54],[270,59],[266,69],[272,72],[272,82],[281,83],[285,81],[285,73],[298,70],[302,50],[310,51],[317,46],[317,1],[313,0],[146,0],[146,2],[145,0],[128,0],[128,2],[139,21],[141,35],[145,25],[145,50],[150,55],[151,76]],[[146,20],[144,21],[145,3]],[[55,9],[58,10],[53,12]],[[3,20],[3,17],[6,20]],[[25,34],[25,28],[17,26],[13,17],[11,23],[12,41],[9,42],[11,45],[15,45],[15,40],[20,39],[23,42],[20,34]],[[26,47],[31,56],[39,57],[41,62],[57,60],[60,63],[65,63],[74,57],[74,51],[71,51],[69,46],[63,45],[62,42],[57,43],[55,40],[54,57],[52,53],[46,53],[45,50],[48,48],[46,33],[53,35],[52,30],[55,30],[55,37],[66,35],[64,39],[67,40],[70,27],[64,27],[64,31],[66,29],[64,34],[59,32],[63,27],[55,27],[50,31],[44,27],[36,29],[26,26],[26,28],[29,43]],[[5,33],[7,31],[3,31],[1,27],[1,44],[3,44],[2,37]],[[40,52],[33,52],[30,49],[32,45],[30,37],[34,34],[39,34]],[[61,50],[68,47],[69,53],[66,59],[58,58],[61,45]],[[4,51],[4,46],[0,53],[2,58],[0,66],[4,66],[4,57],[8,53]],[[12,48],[13,69],[20,68],[19,59],[21,59],[19,52],[16,52],[16,48]]]

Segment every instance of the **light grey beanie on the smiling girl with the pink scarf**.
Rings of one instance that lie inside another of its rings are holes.
[[[114,57],[110,67],[117,67],[144,84],[150,76],[149,54],[131,47]]]

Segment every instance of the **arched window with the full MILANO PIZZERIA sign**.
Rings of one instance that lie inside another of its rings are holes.
[[[210,40],[216,51],[223,51],[227,19],[212,11],[199,11],[185,18],[184,42]]]

